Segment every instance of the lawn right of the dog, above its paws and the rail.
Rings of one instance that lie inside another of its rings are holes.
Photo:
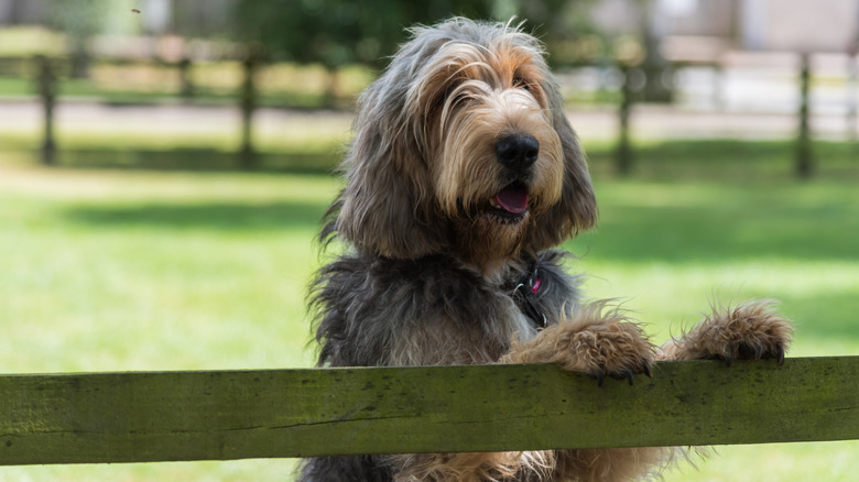
[[[859,352],[859,193],[851,180],[598,184],[601,221],[569,243],[594,297],[676,335],[710,303],[775,298],[795,355]]]

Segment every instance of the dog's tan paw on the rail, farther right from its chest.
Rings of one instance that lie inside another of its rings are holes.
[[[735,360],[775,359],[784,362],[793,325],[774,310],[771,299],[750,300],[732,308],[715,308],[698,326],[675,340],[681,360],[717,359],[730,366]]]

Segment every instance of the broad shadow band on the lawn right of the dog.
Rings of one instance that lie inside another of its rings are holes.
[[[641,186],[650,188],[642,189]],[[629,263],[796,259],[859,261],[859,197],[852,184],[716,188],[694,199],[667,187],[664,205],[648,206],[660,185],[607,186],[598,228],[567,247],[578,254]],[[631,199],[618,193],[640,189]],[[705,190],[693,186],[688,193]],[[599,188],[598,188],[599,191]],[[724,198],[711,199],[722,195]]]

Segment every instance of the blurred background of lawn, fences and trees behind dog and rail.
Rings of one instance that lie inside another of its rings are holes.
[[[773,297],[859,354],[853,0],[0,0],[0,370],[311,366],[305,308],[357,95],[454,14],[546,45],[599,228],[591,298],[657,342]],[[670,481],[848,481],[859,443],[725,447]],[[0,468],[292,480],[295,461]]]

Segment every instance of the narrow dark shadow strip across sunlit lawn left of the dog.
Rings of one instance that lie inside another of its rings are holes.
[[[326,207],[309,202],[77,207],[65,211],[65,217],[73,222],[102,228],[145,226],[236,232],[294,228],[316,230],[322,227]]]

